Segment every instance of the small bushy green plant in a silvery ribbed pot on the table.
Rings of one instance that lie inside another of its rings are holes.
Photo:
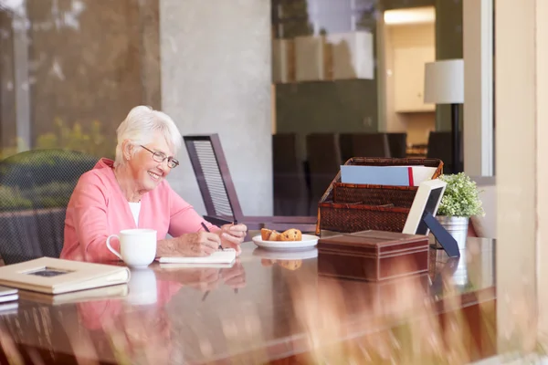
[[[473,215],[484,215],[479,191],[464,172],[451,175],[441,175],[441,181],[448,185],[437,208],[437,221],[448,230],[463,249],[468,235],[469,218]]]

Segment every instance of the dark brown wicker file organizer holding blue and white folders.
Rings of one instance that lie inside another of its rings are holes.
[[[436,167],[432,179],[443,172],[438,159],[353,157],[345,165]],[[321,230],[353,233],[365,230],[402,232],[418,186],[341,183],[341,172],[318,203],[316,235]]]

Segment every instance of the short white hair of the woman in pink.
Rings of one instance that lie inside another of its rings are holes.
[[[160,133],[167,145],[177,154],[183,141],[181,132],[167,114],[162,111],[153,110],[151,107],[140,105],[133,108],[116,130],[118,144],[116,145],[116,158],[114,166],[124,163],[121,145],[123,141],[129,140],[132,145],[151,143]],[[134,149],[132,150],[134,153]]]

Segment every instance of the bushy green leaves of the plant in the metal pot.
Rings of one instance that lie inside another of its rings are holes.
[[[437,215],[448,217],[471,217],[485,215],[476,183],[470,180],[464,172],[452,175],[441,175],[439,179],[448,183],[441,203],[437,208]]]

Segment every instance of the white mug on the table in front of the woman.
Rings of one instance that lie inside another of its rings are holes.
[[[111,238],[120,241],[120,252],[111,246]],[[120,235],[109,235],[107,248],[120,257],[127,266],[146,267],[152,264],[156,257],[156,231],[153,229],[124,229]]]

